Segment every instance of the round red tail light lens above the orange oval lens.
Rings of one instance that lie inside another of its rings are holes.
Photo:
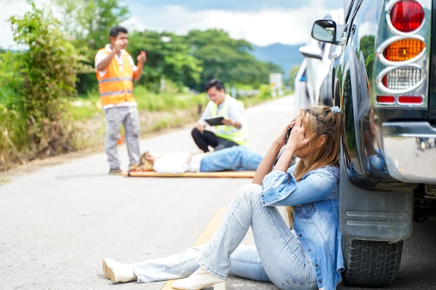
[[[414,31],[419,29],[423,21],[424,10],[416,1],[399,1],[391,10],[391,23],[398,31]]]

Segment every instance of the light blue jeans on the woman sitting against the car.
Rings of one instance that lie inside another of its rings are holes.
[[[221,225],[207,245],[178,255],[132,264],[138,282],[178,279],[203,266],[217,277],[228,273],[272,282],[283,290],[315,290],[315,268],[276,207],[263,207],[261,186],[247,184],[236,193]],[[249,227],[256,247],[239,245]]]

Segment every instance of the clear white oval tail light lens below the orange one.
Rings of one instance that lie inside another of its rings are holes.
[[[419,67],[398,67],[382,77],[382,84],[389,90],[405,90],[419,85],[421,80],[422,71]]]

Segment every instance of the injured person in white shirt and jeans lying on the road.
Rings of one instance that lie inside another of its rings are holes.
[[[256,170],[262,158],[261,154],[240,145],[208,153],[171,152],[160,156],[145,152],[141,155],[137,171],[180,174],[184,172]]]

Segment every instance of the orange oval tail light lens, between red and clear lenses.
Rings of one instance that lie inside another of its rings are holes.
[[[408,61],[423,52],[426,44],[416,38],[398,40],[388,45],[383,56],[388,61]]]

